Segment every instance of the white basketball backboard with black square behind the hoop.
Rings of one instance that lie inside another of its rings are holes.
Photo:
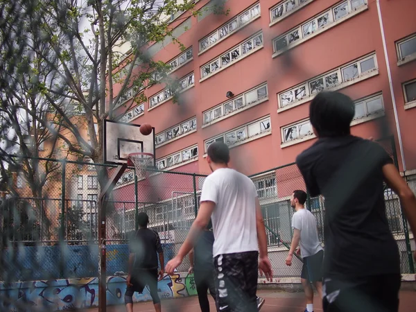
[[[106,164],[123,164],[131,153],[150,153],[155,166],[155,128],[150,135],[142,135],[140,125],[105,119],[103,130]]]

